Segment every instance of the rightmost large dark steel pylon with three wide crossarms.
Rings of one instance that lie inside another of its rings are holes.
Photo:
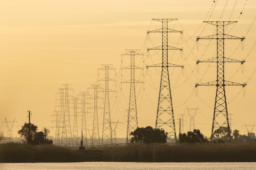
[[[225,34],[225,26],[229,24],[233,24],[237,21],[204,21],[207,24],[212,24],[217,26],[217,33],[215,35],[209,35],[206,37],[198,37],[197,42],[199,39],[216,39],[217,40],[217,56],[215,58],[211,58],[208,60],[197,61],[199,62],[216,62],[217,63],[217,80],[213,82],[207,82],[203,84],[196,84],[197,86],[216,86],[216,97],[215,97],[215,104],[214,104],[214,111],[213,111],[213,123],[211,128],[211,141],[213,141],[213,133],[218,128],[227,128],[227,134],[229,138],[229,142],[231,142],[231,132],[229,127],[229,117],[227,111],[227,101],[226,101],[226,93],[225,93],[225,86],[246,86],[246,83],[239,84],[235,82],[229,82],[224,79],[224,64],[225,62],[240,62],[243,64],[245,61],[238,61],[231,58],[227,58],[224,55],[224,40],[225,39],[239,39],[243,41],[245,38],[239,38],[232,35]]]

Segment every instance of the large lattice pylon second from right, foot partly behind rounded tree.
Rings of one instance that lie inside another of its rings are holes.
[[[168,68],[169,67],[182,67],[176,64],[168,63],[168,50],[180,50],[176,47],[168,46],[168,33],[182,33],[182,31],[176,31],[168,29],[168,22],[177,19],[153,19],[158,22],[162,22],[162,28],[148,31],[148,33],[162,33],[162,46],[154,47],[148,50],[162,50],[162,63],[155,64],[148,67],[162,67],[161,83],[159,90],[159,98],[157,105],[157,117],[156,117],[156,128],[162,128],[168,132],[168,143],[176,143],[176,129],[173,114],[173,102],[171,97],[170,79]]]

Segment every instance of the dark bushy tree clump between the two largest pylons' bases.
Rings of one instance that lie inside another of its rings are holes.
[[[180,143],[201,143],[201,142],[209,142],[204,138],[204,135],[200,132],[200,130],[194,129],[193,132],[188,131],[187,133],[183,133],[179,135]]]

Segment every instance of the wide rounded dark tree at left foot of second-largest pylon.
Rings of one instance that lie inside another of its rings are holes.
[[[131,143],[151,144],[166,143],[168,133],[163,129],[147,126],[146,128],[137,128],[130,135],[133,136],[130,140]]]

